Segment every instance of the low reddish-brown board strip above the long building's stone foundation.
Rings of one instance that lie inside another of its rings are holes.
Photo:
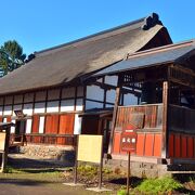
[[[25,134],[27,143],[52,144],[52,145],[76,145],[76,135],[73,134]]]

